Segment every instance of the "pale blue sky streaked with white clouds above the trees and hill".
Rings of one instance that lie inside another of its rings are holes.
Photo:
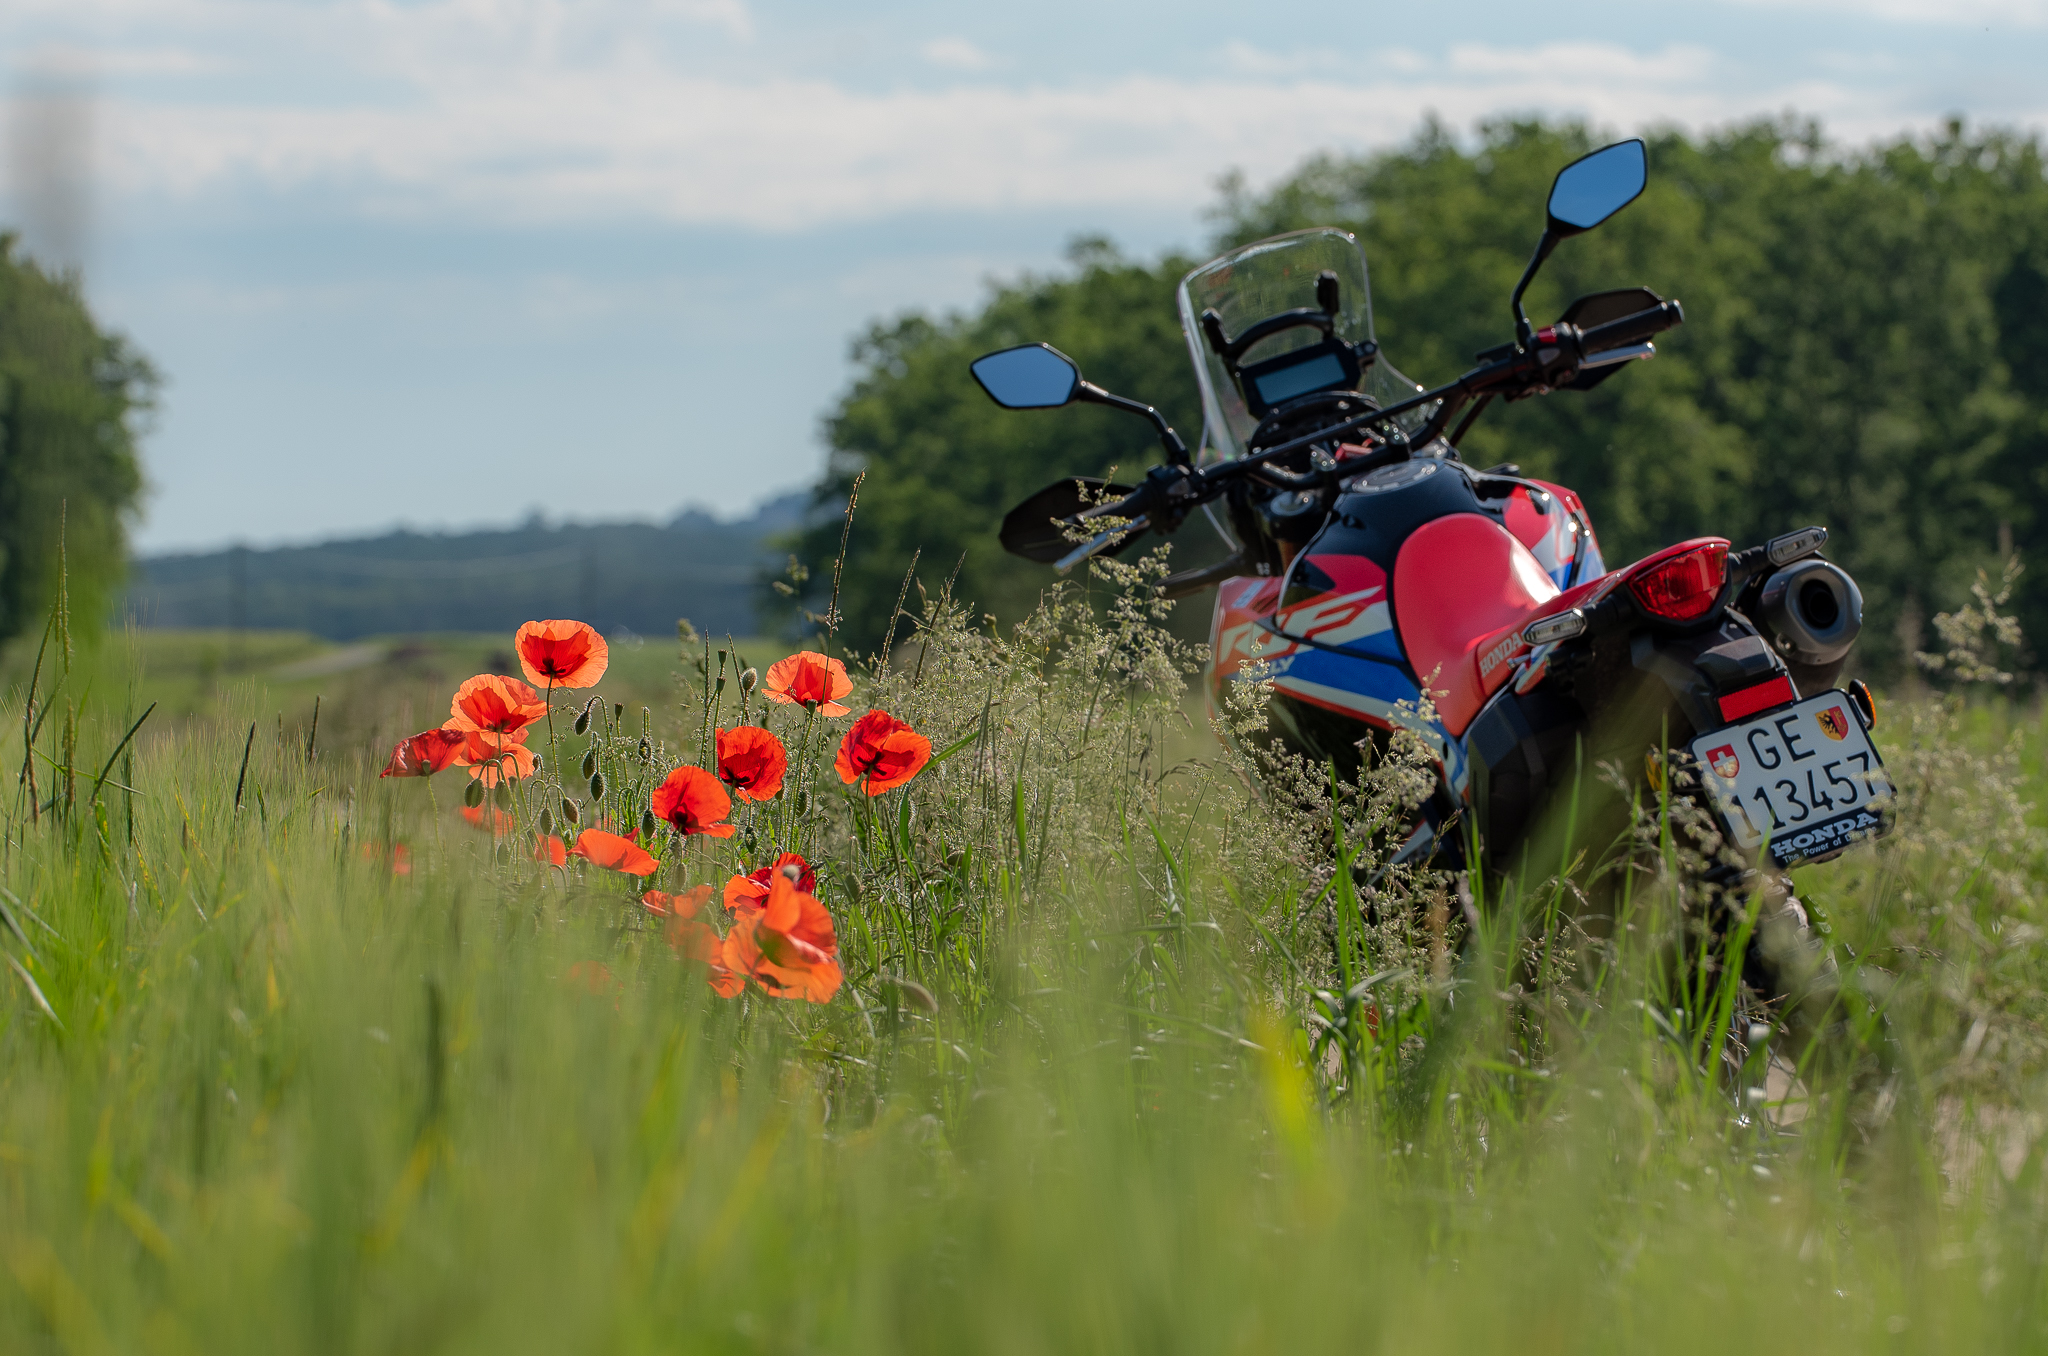
[[[739,514],[870,322],[1198,252],[1225,172],[1430,115],[2044,129],[2042,70],[2048,0],[6,0],[0,221],[166,377],[141,551]]]

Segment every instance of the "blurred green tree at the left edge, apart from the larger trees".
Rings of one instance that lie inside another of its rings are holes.
[[[0,639],[37,625],[63,586],[96,637],[141,496],[133,416],[150,363],[98,330],[76,277],[51,277],[0,234]]]

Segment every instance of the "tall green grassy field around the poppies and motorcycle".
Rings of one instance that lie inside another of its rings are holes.
[[[1884,698],[1901,825],[1798,873],[1835,1030],[1767,1055],[1673,967],[1663,821],[1606,930],[1556,881],[1479,936],[1444,881],[1362,897],[1333,862],[1407,770],[1255,795],[1159,621],[934,612],[850,717],[768,711],[791,787],[643,840],[651,881],[535,862],[541,787],[633,821],[739,719],[721,643],[614,655],[588,735],[557,692],[504,836],[461,770],[377,772],[512,637],[45,653],[0,856],[0,1346],[2040,1348],[2036,707]],[[831,770],[868,707],[934,750],[877,797]],[[831,1002],[717,995],[639,903],[774,848],[817,866]]]

